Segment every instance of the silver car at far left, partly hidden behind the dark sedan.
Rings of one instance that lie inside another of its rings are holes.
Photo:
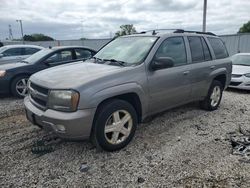
[[[32,54],[44,49],[35,45],[7,45],[0,48],[0,65],[14,63],[28,58]]]

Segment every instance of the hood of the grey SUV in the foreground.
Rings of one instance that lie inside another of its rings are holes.
[[[126,67],[81,61],[43,70],[33,74],[30,80],[49,89],[76,89],[85,83],[123,71],[123,69]]]

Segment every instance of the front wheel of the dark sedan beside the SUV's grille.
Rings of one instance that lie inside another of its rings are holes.
[[[16,77],[10,86],[12,95],[18,98],[24,98],[28,94],[28,79],[29,76],[27,75]]]

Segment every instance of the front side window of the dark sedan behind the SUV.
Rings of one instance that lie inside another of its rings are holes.
[[[63,51],[54,53],[45,61],[48,61],[49,63],[53,64],[53,63],[70,61],[70,60],[72,60],[71,50],[63,50]]]

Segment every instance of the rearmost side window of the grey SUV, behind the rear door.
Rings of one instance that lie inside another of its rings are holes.
[[[216,59],[222,59],[228,57],[227,49],[223,44],[222,40],[218,38],[208,38],[213,50]]]

